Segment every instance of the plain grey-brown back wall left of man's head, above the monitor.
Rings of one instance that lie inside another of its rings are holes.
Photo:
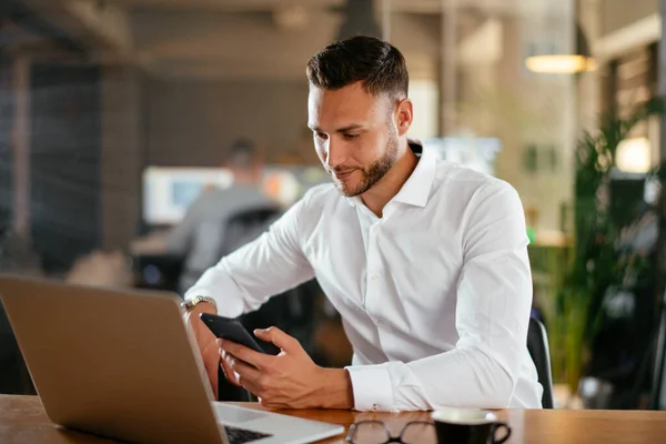
[[[293,151],[307,124],[305,79],[153,80],[148,94],[148,162],[153,165],[219,165],[240,137],[259,143],[271,161]]]

